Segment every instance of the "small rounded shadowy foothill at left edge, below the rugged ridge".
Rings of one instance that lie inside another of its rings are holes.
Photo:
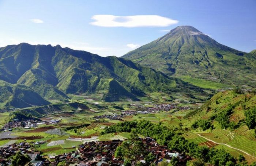
[[[25,85],[10,84],[0,80],[0,92],[0,107],[24,108],[50,104],[38,93]]]

